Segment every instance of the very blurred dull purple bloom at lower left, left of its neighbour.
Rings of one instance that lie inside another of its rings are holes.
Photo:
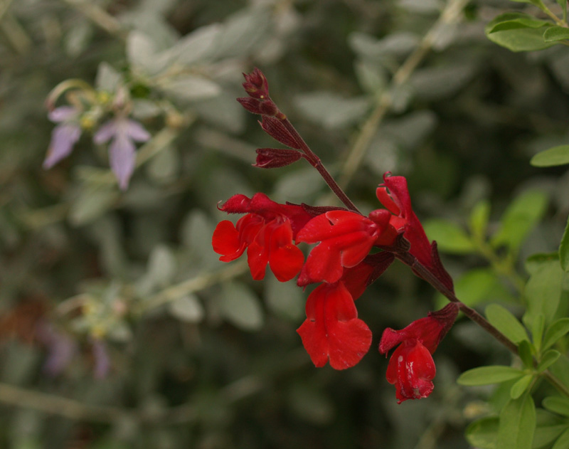
[[[48,352],[46,361],[43,362],[43,371],[49,376],[61,374],[77,354],[77,343],[55,329],[53,324],[43,320],[38,324],[36,337]]]

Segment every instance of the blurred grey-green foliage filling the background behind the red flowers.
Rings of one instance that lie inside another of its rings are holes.
[[[314,369],[295,332],[307,292],[220,263],[211,234],[225,218],[216,204],[235,193],[333,201],[307,165],[250,166],[273,145],[235,102],[241,73],[258,66],[362,210],[377,208],[385,171],[408,177],[431,238],[474,232],[484,214],[479,232],[494,233],[518,198],[511,214],[527,226],[511,266],[527,278],[519,261],[555,250],[569,212],[565,169],[528,163],[569,141],[569,51],[511,53],[484,26],[532,8],[1,1],[0,448],[469,447],[485,390],[456,378],[509,363],[506,350],[459,320],[435,354],[432,396],[397,405],[373,349],[385,327],[440,305],[428,285],[393,265],[358,300],[370,353],[347,371]],[[127,191],[92,123],[68,159],[41,168],[54,127],[46,98],[68,79],[110,97],[122,83],[151,132]],[[461,238],[444,260],[458,296],[515,311],[515,279]]]

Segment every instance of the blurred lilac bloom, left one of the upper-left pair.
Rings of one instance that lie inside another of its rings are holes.
[[[44,169],[50,169],[73,150],[73,145],[81,135],[79,115],[80,111],[73,106],[60,106],[49,112],[49,120],[59,125],[51,132],[48,153],[43,161]]]

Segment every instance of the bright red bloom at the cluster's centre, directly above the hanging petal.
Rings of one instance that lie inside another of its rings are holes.
[[[339,281],[344,268],[358,265],[381,240],[382,232],[389,226],[390,214],[385,212],[374,215],[376,221],[344,210],[326,211],[312,218],[299,231],[297,242],[319,244],[310,252],[298,285]]]

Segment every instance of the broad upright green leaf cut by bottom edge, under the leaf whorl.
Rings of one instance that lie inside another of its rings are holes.
[[[529,393],[511,399],[500,412],[498,442],[500,449],[531,449],[536,430],[536,406]]]

